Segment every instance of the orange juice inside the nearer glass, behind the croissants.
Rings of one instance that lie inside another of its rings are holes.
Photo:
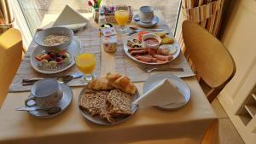
[[[76,57],[76,66],[84,74],[92,74],[96,67],[96,58],[93,54],[81,54]]]

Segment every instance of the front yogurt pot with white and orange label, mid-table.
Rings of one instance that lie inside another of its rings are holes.
[[[117,38],[113,36],[102,37],[102,47],[107,53],[114,53],[116,51]]]

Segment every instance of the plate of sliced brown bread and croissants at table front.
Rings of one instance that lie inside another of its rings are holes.
[[[139,96],[130,78],[108,72],[84,87],[79,95],[79,109],[92,123],[119,124],[137,111],[137,105],[132,102]]]

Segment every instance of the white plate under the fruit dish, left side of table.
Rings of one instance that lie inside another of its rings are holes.
[[[74,61],[74,57],[76,55],[79,55],[81,50],[81,42],[79,41],[79,39],[77,37],[73,37],[73,41],[72,43],[68,46],[67,52],[69,54],[71,54],[71,61],[70,63],[58,70],[49,70],[49,69],[43,69],[41,68],[41,66],[38,65],[38,60],[36,60],[36,55],[38,54],[42,54],[42,52],[44,51],[44,49],[41,49],[38,45],[36,45],[36,48],[34,49],[34,51],[32,52],[31,55],[31,59],[30,59],[30,63],[32,65],[32,67],[40,72],[40,73],[44,73],[44,74],[54,74],[54,73],[58,73],[58,72],[63,72],[65,70],[67,70],[68,68],[70,68],[71,66],[73,66],[75,64]]]

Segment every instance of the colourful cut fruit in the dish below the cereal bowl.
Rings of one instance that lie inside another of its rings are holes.
[[[61,53],[55,52],[42,52],[35,57],[42,68],[55,68],[57,66],[67,66],[71,61],[70,54],[63,50]]]

